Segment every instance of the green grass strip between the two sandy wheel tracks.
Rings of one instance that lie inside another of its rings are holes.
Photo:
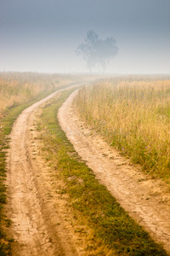
[[[100,253],[93,255],[167,255],[149,234],[130,218],[116,202],[105,186],[101,185],[94,172],[80,159],[65,137],[57,119],[59,106],[71,91],[61,93],[58,100],[52,100],[43,108],[38,131],[41,133],[43,152],[49,164],[56,170],[56,178],[65,181],[60,193],[69,195],[69,205],[75,218],[82,220],[93,230],[93,244],[87,251],[100,247]],[[103,249],[102,249],[103,248]],[[107,254],[108,255],[108,254]]]

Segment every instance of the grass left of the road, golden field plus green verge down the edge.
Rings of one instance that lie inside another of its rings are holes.
[[[7,202],[6,149],[8,134],[22,110],[54,90],[82,82],[85,78],[74,75],[43,73],[0,73],[0,255],[10,255],[12,240],[8,234],[10,220],[4,214]],[[94,79],[94,78],[88,78]]]

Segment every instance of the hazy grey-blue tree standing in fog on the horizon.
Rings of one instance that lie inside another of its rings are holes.
[[[88,31],[85,42],[78,45],[76,53],[82,55],[83,59],[87,61],[90,72],[93,67],[98,67],[99,70],[102,68],[105,72],[109,61],[118,53],[116,39],[105,38],[102,40],[94,31]]]

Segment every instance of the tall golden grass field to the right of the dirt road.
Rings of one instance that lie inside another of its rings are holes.
[[[144,172],[170,184],[170,78],[129,77],[84,86],[81,119]]]

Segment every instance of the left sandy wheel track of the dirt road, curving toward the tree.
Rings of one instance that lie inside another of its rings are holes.
[[[35,140],[34,135],[31,137],[31,130],[34,129],[34,114],[42,103],[57,93],[54,92],[26,108],[15,121],[10,134],[7,207],[8,217],[13,223],[11,232],[15,241],[14,256],[77,255],[76,248],[71,244],[69,230],[65,231],[62,225],[56,227],[50,219],[54,218],[54,209],[49,203],[47,193],[51,193],[52,188],[49,189],[49,184],[44,182],[48,175],[42,180],[38,180],[37,175],[42,173],[44,176],[47,167],[41,160],[32,160],[31,143],[35,143]],[[56,213],[54,221],[59,222],[59,212]]]

